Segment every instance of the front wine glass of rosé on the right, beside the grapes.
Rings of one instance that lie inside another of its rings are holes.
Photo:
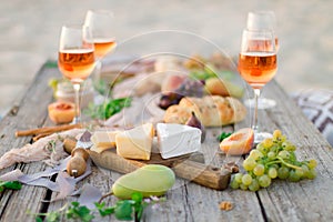
[[[241,52],[239,56],[239,72],[254,91],[254,113],[251,121],[254,130],[254,143],[272,137],[260,132],[258,128],[258,99],[261,89],[273,79],[278,70],[275,36],[271,30],[243,31]]]

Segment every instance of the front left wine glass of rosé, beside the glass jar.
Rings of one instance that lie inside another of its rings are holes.
[[[58,67],[64,78],[73,84],[75,92],[75,117],[80,123],[81,83],[94,69],[94,47],[89,27],[63,26],[60,34]]]

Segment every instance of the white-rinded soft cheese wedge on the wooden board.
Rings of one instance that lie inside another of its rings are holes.
[[[157,124],[158,143],[163,159],[174,158],[201,148],[201,130],[176,123]]]

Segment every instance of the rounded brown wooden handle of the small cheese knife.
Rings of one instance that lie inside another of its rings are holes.
[[[83,148],[75,148],[72,150],[71,155],[71,159],[67,163],[67,172],[71,176],[78,178],[87,170],[89,153]]]

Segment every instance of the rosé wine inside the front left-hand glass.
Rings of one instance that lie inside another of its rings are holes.
[[[82,82],[94,68],[92,49],[71,49],[59,52],[58,65],[62,74],[72,82]]]

